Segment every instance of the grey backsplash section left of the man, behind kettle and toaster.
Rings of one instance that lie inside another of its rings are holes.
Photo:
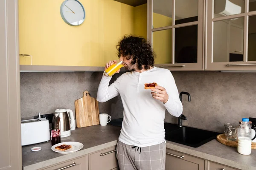
[[[111,82],[121,74],[114,75]],[[62,72],[62,73],[20,73],[21,119],[54,113],[55,109],[71,109],[75,113],[75,100],[89,91],[97,97],[102,72]],[[99,103],[99,113],[108,113],[112,119],[123,114],[120,96],[105,103]],[[75,115],[74,115],[75,116]]]

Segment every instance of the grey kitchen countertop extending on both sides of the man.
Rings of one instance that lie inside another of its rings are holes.
[[[36,170],[48,167],[53,164],[74,159],[88,153],[102,150],[107,147],[115,146],[120,134],[119,126],[90,126],[76,128],[71,131],[71,136],[61,138],[61,142],[81,142],[84,147],[70,154],[60,154],[51,150],[51,142],[33,144],[22,147],[23,170]],[[32,152],[31,148],[35,146],[42,147],[42,150]],[[198,147],[189,147],[183,144],[166,141],[166,147],[172,150],[180,151],[192,156],[215,161],[241,170],[256,170],[256,150],[252,150],[249,156],[241,155],[237,148],[229,147],[219,143],[216,139]]]

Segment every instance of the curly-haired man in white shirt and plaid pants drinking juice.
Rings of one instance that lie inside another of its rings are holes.
[[[122,129],[116,146],[120,170],[164,170],[165,111],[179,117],[182,103],[175,80],[167,69],[154,67],[154,52],[142,37],[124,37],[116,46],[118,58],[129,72],[113,84],[103,75],[97,100],[106,102],[120,94],[124,107]],[[105,70],[116,61],[106,63]],[[119,72],[119,71],[117,71]],[[144,83],[156,82],[152,89]]]

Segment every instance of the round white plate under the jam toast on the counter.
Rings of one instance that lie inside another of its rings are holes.
[[[58,150],[58,149],[55,149],[55,147],[57,146],[60,146],[61,144],[67,144],[67,145],[71,145],[72,147],[70,149],[67,149],[67,150]],[[58,152],[58,153],[62,153],[62,154],[67,154],[67,153],[73,153],[73,152],[76,152],[78,150],[80,150],[81,148],[83,148],[84,145],[81,144],[80,142],[61,142],[61,143],[58,143],[58,144],[55,144],[52,146],[52,150],[54,152]]]

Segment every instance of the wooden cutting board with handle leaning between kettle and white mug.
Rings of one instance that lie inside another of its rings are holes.
[[[96,98],[84,91],[84,96],[75,101],[76,127],[99,125],[99,104]]]

